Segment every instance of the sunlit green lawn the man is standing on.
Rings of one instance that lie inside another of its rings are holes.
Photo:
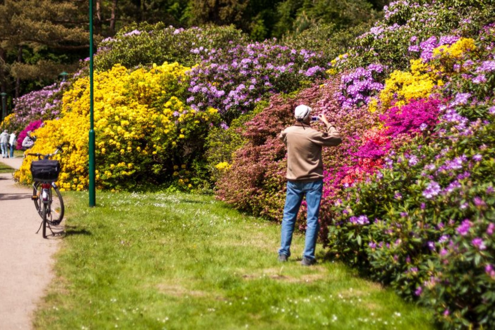
[[[301,235],[279,263],[279,226],[211,196],[64,198],[67,236],[37,329],[434,329],[429,311],[343,264],[301,266]]]

